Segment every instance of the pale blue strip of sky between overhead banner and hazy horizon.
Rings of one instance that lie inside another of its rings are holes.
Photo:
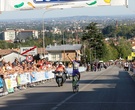
[[[68,8],[30,11],[2,12],[0,20],[5,19],[29,19],[29,18],[57,18],[69,16],[110,16],[110,15],[135,15],[135,0],[128,1],[128,8],[125,6],[103,6],[90,8]]]

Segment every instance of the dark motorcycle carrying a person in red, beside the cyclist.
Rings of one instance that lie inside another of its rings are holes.
[[[55,74],[56,83],[58,87],[63,86],[63,83],[66,81],[66,74],[60,71],[53,71]]]

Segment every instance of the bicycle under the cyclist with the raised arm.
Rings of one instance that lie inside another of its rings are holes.
[[[75,76],[72,76],[72,88],[73,88],[73,92],[78,92],[79,91],[79,75],[76,74]]]

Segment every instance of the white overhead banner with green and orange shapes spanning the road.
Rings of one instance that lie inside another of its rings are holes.
[[[0,0],[0,11],[128,6],[128,0]]]

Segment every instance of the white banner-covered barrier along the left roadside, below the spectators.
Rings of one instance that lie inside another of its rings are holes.
[[[66,68],[69,75],[72,74],[72,68]],[[4,86],[6,87],[8,93],[15,92],[16,89],[21,89],[21,87],[27,86],[28,84],[32,85],[33,83],[46,81],[49,79],[55,78],[54,70],[50,71],[33,71],[25,73],[14,73],[7,75],[8,78],[2,79],[0,77],[0,96],[3,95]],[[86,71],[85,67],[79,67],[80,72]],[[5,84],[4,84],[5,83]],[[2,91],[3,90],[3,91]],[[5,92],[5,91],[4,91]]]

